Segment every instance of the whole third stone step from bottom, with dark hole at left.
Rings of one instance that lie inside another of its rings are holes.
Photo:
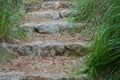
[[[25,32],[57,34],[67,32],[69,28],[82,29],[82,23],[68,23],[67,21],[46,21],[40,23],[25,23],[20,25]]]

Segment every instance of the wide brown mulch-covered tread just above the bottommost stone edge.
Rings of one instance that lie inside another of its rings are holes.
[[[30,57],[20,56],[7,63],[0,64],[0,72],[24,71],[32,73],[69,73],[74,64],[80,63],[82,58],[75,57]]]

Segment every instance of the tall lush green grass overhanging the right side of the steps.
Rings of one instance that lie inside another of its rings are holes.
[[[77,0],[74,20],[97,27],[86,59],[88,80],[120,80],[120,0]]]

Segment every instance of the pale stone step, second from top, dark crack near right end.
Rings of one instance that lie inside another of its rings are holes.
[[[37,11],[37,12],[31,12],[26,14],[27,19],[33,19],[33,18],[50,18],[50,19],[59,19],[68,17],[72,10],[47,10],[47,11]]]

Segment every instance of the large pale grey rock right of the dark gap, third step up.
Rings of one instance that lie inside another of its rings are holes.
[[[61,33],[67,30],[68,23],[66,21],[49,21],[38,23],[34,25],[34,28],[38,30],[39,33]]]

